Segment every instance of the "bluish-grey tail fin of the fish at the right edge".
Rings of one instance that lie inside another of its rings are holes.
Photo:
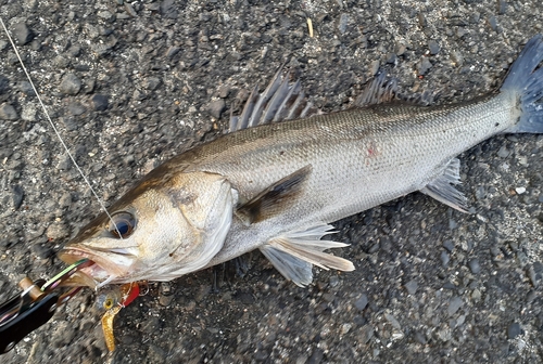
[[[501,91],[514,92],[520,117],[506,133],[543,133],[543,36],[532,37],[509,69]]]

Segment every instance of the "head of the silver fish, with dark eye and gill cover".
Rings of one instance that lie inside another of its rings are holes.
[[[93,262],[67,284],[169,281],[202,269],[224,245],[236,199],[219,174],[151,172],[59,252],[68,264]]]

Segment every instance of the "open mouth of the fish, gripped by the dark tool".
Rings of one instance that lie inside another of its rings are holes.
[[[88,286],[100,288],[109,283],[118,283],[130,270],[136,257],[123,249],[97,249],[85,246],[67,246],[59,251],[58,257],[66,264],[73,264],[87,258],[92,262],[89,266],[78,270],[66,280],[64,286]]]

